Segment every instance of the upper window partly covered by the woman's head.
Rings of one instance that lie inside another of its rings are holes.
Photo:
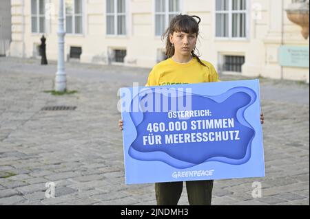
[[[171,19],[180,14],[180,0],[155,0],[155,35],[161,36]]]

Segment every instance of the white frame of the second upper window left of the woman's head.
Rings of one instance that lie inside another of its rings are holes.
[[[130,21],[127,21],[129,20],[129,14],[128,14],[128,6],[129,6],[129,3],[128,1],[124,1],[125,5],[125,12],[117,12],[117,0],[112,0],[113,1],[113,4],[114,4],[114,12],[107,12],[107,1],[105,1],[105,36],[108,36],[108,37],[120,37],[120,38],[123,38],[123,37],[127,37],[128,36],[128,23],[130,23]],[[107,33],[107,16],[113,16],[114,17],[114,34],[108,34]],[[117,29],[118,29],[118,23],[117,23],[117,17],[118,16],[125,16],[125,34],[117,34]]]

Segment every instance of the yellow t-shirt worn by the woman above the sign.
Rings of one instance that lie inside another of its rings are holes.
[[[218,82],[218,73],[214,66],[205,60],[201,60],[206,66],[201,65],[197,58],[187,63],[174,62],[168,58],[155,65],[149,73],[145,86],[194,84],[203,82]]]

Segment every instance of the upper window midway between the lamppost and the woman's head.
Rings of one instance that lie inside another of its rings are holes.
[[[125,0],[107,0],[107,34],[126,34]]]

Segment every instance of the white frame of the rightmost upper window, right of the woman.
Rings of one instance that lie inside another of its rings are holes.
[[[223,40],[223,41],[248,41],[249,34],[250,34],[250,1],[245,0],[245,10],[232,10],[233,7],[233,0],[228,0],[228,10],[216,10],[216,1],[214,0],[214,38],[216,40]],[[216,15],[217,14],[228,14],[228,36],[216,36]],[[235,37],[233,35],[233,14],[245,14],[245,37]]]

